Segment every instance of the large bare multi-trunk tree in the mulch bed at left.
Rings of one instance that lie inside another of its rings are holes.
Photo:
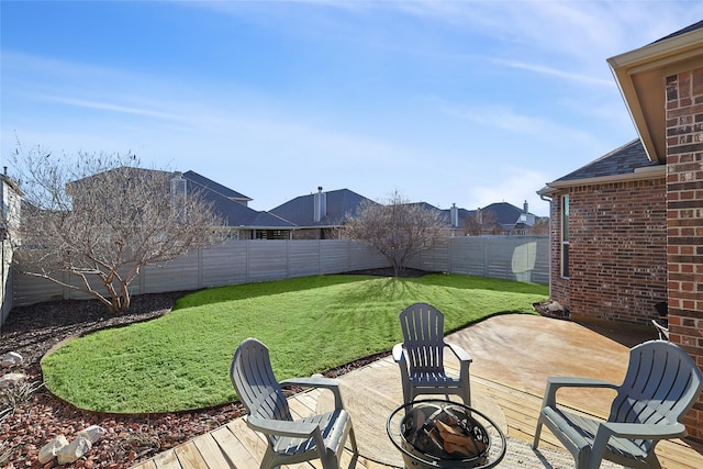
[[[222,222],[179,174],[142,169],[131,154],[54,156],[21,146],[13,177],[24,193],[13,264],[88,293],[111,313],[130,308],[140,269],[222,239]]]

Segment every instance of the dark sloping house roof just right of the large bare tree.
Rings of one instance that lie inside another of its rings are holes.
[[[183,172],[188,189],[201,191],[202,197],[213,204],[213,210],[224,219],[227,226],[248,228],[293,228],[295,225],[268,212],[249,209],[242,201],[252,200],[198,172]]]

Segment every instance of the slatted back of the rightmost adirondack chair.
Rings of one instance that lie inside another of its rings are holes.
[[[611,422],[680,422],[703,389],[703,373],[678,345],[649,340],[631,349],[625,380],[611,406]]]

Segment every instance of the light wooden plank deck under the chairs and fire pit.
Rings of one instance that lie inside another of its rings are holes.
[[[507,421],[509,435],[532,442],[536,418],[542,404],[542,394],[516,389],[509,383],[498,382],[486,376],[471,376],[471,387],[490,395],[503,410]],[[291,411],[298,415],[310,414],[316,406],[317,391],[308,391],[290,399]],[[590,415],[599,415],[590,409],[579,409]],[[603,415],[599,415],[603,416]],[[379,435],[379,437],[387,437]],[[563,449],[556,437],[545,427],[540,448]],[[132,469],[252,469],[258,468],[266,449],[263,437],[250,431],[243,418],[201,435],[176,448],[161,453]],[[666,440],[657,446],[657,455],[666,469],[703,468],[703,445],[688,440]],[[352,454],[347,450],[343,467],[349,467]],[[291,465],[291,469],[320,469],[320,461]],[[388,469],[388,466],[359,457],[356,469]]]

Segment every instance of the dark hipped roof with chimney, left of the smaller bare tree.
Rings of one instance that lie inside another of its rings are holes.
[[[319,222],[315,222],[315,193],[299,196],[269,212],[300,227],[339,226],[356,213],[361,202],[370,201],[348,189],[319,193],[326,197],[326,212]]]

